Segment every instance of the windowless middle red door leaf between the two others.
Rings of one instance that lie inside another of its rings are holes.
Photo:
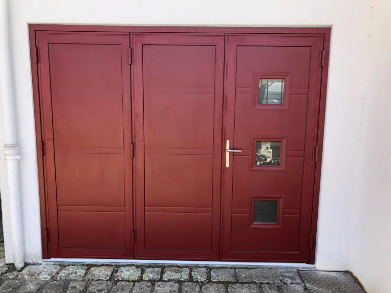
[[[218,259],[224,38],[132,42],[136,258]]]

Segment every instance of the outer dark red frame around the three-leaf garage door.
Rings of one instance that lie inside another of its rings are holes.
[[[312,200],[312,216],[310,221],[310,232],[312,236],[312,246],[309,250],[308,263],[315,263],[316,251],[316,235],[318,222],[318,207],[319,207],[319,192],[321,179],[321,163],[323,150],[323,137],[325,127],[326,114],[326,88],[328,75],[329,47],[330,47],[330,27],[204,27],[204,26],[113,26],[113,25],[64,25],[64,24],[29,24],[29,45],[31,59],[31,74],[33,85],[33,103],[34,103],[34,119],[36,132],[36,149],[38,160],[38,180],[40,193],[40,215],[41,215],[41,239],[43,247],[43,259],[49,257],[48,245],[45,240],[45,230],[49,227],[47,217],[47,201],[45,188],[45,168],[44,158],[42,157],[41,141],[43,140],[43,120],[42,120],[42,105],[40,101],[39,87],[39,52],[35,51],[37,45],[36,33],[40,31],[48,32],[126,32],[126,33],[191,33],[191,34],[266,34],[266,35],[302,35],[302,36],[319,36],[323,38],[321,49],[324,52],[320,77],[320,97],[319,97],[319,115],[317,133],[315,133],[317,146],[319,147],[318,161],[315,164],[315,174],[313,179],[313,200]],[[133,83],[133,80],[131,80]],[[133,84],[131,84],[133,85]],[[133,86],[132,86],[133,88]],[[133,105],[132,95],[132,105]],[[133,124],[134,127],[134,124]],[[133,132],[134,133],[134,132]],[[134,140],[134,137],[133,137]],[[133,164],[134,170],[134,164]],[[133,187],[134,191],[134,187]],[[133,215],[134,216],[134,215]]]

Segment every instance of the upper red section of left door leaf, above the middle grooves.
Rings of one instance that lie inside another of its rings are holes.
[[[49,44],[55,147],[123,147],[119,44]]]

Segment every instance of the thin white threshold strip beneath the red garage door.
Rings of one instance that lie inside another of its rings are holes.
[[[171,264],[171,265],[202,265],[202,266],[267,266],[267,267],[315,268],[315,265],[308,265],[306,263],[111,259],[111,258],[50,258],[50,259],[43,259],[43,262],[83,262],[83,263],[117,263],[117,264],[132,263],[132,264]]]

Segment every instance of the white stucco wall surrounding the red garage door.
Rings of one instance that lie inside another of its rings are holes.
[[[387,155],[387,142],[390,143],[390,137],[383,135],[386,127],[390,130],[387,105],[390,107],[391,102],[390,99],[387,100],[390,95],[387,96],[386,89],[391,80],[390,72],[388,75],[385,72],[381,79],[375,78],[379,69],[386,70],[384,60],[387,59],[390,63],[387,49],[378,50],[379,45],[384,45],[388,46],[390,52],[390,41],[386,40],[384,28],[384,25],[390,28],[390,12],[387,15],[379,7],[386,2],[387,0],[9,0],[18,142],[22,157],[20,182],[26,262],[40,262],[42,258],[27,23],[332,26],[316,265],[319,269],[327,270],[352,269],[364,284],[370,286],[374,280],[374,272],[363,277],[367,272],[360,263],[360,255],[373,250],[373,243],[366,240],[366,235],[370,232],[377,242],[384,245],[385,251],[387,243],[380,238],[384,237],[384,233],[381,236],[380,229],[384,221],[391,222],[386,205],[380,201],[388,200],[390,207],[387,192],[387,187],[390,186],[390,180],[387,180],[387,175],[391,173],[390,163],[386,160],[379,167],[380,161]],[[383,82],[385,86],[381,85]],[[372,131],[372,128],[376,131]],[[3,120],[0,114],[0,144],[2,140]],[[366,159],[368,148],[372,148],[371,153],[376,154],[373,161]],[[374,182],[378,180],[380,171],[384,172],[381,177],[384,183],[377,186]],[[1,196],[6,204],[3,161],[0,162],[0,172]],[[368,208],[371,209],[371,222],[365,221],[362,216]],[[377,209],[382,211],[381,218],[375,217]],[[5,212],[4,234],[5,239],[10,239],[7,217]],[[372,229],[373,225],[378,230]],[[364,229],[361,230],[361,226]],[[388,237],[390,240],[390,234]],[[6,253],[7,261],[12,261],[12,251],[7,250],[7,242]],[[373,251],[366,254],[372,266],[381,261],[381,253]],[[390,258],[388,261],[390,262]],[[379,285],[378,289],[373,286],[370,287],[373,288],[370,293],[386,292],[384,284]]]

